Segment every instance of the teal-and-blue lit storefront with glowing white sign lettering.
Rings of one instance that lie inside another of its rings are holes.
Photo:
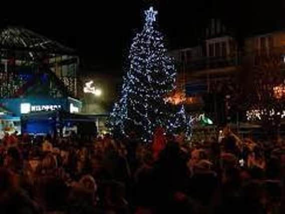
[[[12,133],[50,133],[54,130],[55,120],[50,119],[51,113],[65,112],[69,114],[78,114],[81,111],[81,101],[67,97],[67,98],[49,98],[49,97],[26,97],[14,99],[0,100],[5,111],[0,112],[0,129],[2,135],[4,132]],[[46,113],[46,114],[44,114]],[[45,115],[40,118],[37,115]],[[25,127],[23,118],[29,115],[34,115],[33,118],[38,120],[26,120]],[[56,118],[55,118],[56,119]]]

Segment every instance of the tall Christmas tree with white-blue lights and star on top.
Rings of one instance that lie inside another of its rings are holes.
[[[145,11],[145,24],[133,39],[129,69],[124,77],[120,100],[109,117],[113,131],[135,133],[141,140],[150,140],[156,128],[165,131],[171,126],[173,108],[164,101],[174,89],[176,71],[167,56],[162,34],[156,30],[157,12]]]

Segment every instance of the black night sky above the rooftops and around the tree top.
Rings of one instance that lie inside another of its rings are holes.
[[[32,4],[2,7],[2,26],[23,26],[76,49],[85,68],[121,70],[150,0],[58,2],[38,1],[35,8]],[[195,42],[212,17],[222,18],[239,35],[284,27],[284,2],[160,0],[155,6],[167,45],[175,48]]]

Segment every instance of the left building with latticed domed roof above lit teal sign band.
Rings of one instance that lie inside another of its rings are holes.
[[[0,131],[20,132],[22,116],[30,113],[80,113],[74,50],[9,27],[0,31],[0,53]]]

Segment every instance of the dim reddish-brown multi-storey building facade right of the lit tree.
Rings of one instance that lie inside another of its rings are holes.
[[[268,59],[283,69],[285,31],[248,36],[240,42],[220,20],[212,19],[201,38],[194,47],[170,53],[177,62],[177,87],[188,97],[199,98],[196,110],[208,113],[216,123],[232,122],[238,116],[231,115],[231,95],[239,87],[236,79],[241,69],[245,65],[254,69]]]

